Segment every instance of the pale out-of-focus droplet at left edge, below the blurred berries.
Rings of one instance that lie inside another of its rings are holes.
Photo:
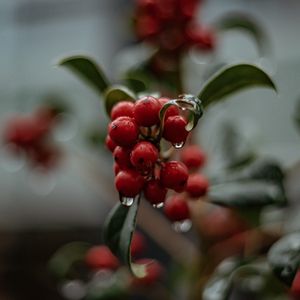
[[[17,172],[25,165],[25,153],[12,144],[7,144],[0,151],[0,164],[8,172]]]

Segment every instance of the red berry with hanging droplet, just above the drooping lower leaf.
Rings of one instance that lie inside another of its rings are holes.
[[[143,189],[144,178],[135,170],[123,170],[117,174],[115,186],[122,196],[135,197]]]

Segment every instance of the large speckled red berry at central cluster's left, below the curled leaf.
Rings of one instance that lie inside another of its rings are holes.
[[[119,117],[109,124],[108,133],[117,145],[129,147],[136,143],[139,136],[139,128],[134,119]]]

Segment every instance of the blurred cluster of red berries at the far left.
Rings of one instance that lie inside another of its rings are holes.
[[[41,107],[31,116],[14,116],[4,130],[4,142],[16,155],[25,154],[33,166],[52,168],[60,151],[50,138],[57,111]]]

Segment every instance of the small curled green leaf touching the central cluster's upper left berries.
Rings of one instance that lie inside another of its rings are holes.
[[[115,85],[110,87],[105,92],[104,99],[106,112],[108,115],[110,115],[110,112],[114,105],[124,100],[134,102],[136,99],[136,95],[124,86]]]

